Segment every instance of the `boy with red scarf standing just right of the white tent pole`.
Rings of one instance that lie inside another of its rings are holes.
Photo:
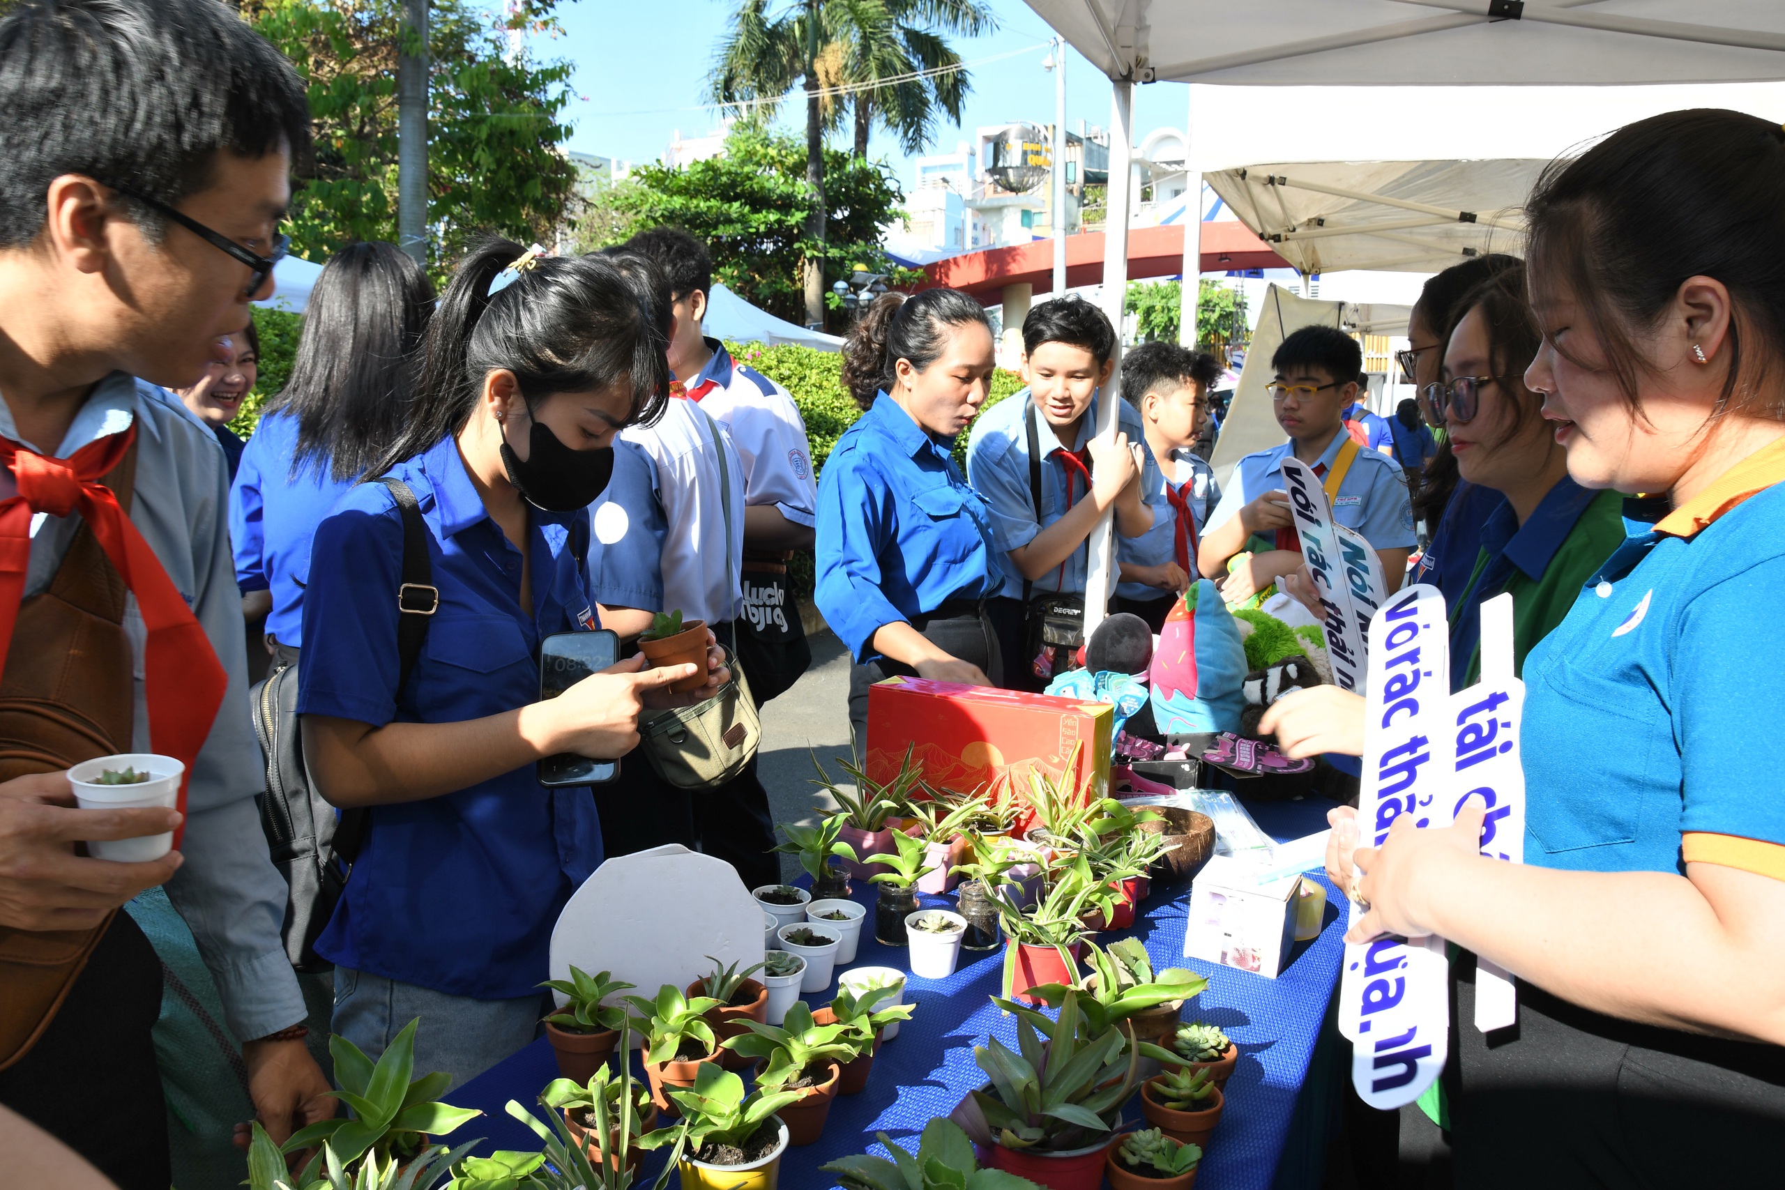
[[[1153,528],[1130,542],[1116,587],[1116,610],[1139,616],[1153,632],[1196,573],[1196,546],[1221,485],[1192,448],[1208,423],[1208,387],[1221,364],[1207,351],[1176,343],[1142,343],[1123,355],[1123,400],[1141,412],[1146,448],[1158,464],[1166,503],[1153,508]]]

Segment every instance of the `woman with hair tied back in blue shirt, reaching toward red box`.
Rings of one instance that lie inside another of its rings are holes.
[[[818,589],[850,646],[850,726],[868,746],[868,687],[892,674],[998,685],[985,599],[1003,583],[991,514],[950,446],[991,394],[985,310],[955,289],[875,300],[844,344],[864,412],[818,480]]]

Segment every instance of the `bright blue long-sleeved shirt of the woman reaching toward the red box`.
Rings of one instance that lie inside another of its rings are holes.
[[[818,478],[818,589],[830,630],[857,662],[882,624],[946,599],[998,594],[991,514],[946,442],[882,393],[843,432]]]

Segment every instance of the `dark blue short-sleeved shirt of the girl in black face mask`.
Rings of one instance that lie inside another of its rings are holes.
[[[528,508],[530,612],[521,553],[484,510],[448,437],[391,471],[428,526],[439,610],[398,689],[396,585],[403,525],[382,483],[361,483],[316,530],[303,599],[298,714],[462,723],[539,698],[539,640],[593,626],[582,512]],[[587,789],[541,789],[534,765],[455,794],[371,808],[371,833],[328,928],[323,958],[452,996],[532,996],[559,910],[602,862]]]

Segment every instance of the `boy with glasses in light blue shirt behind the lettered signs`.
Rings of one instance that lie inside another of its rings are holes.
[[[1301,566],[1283,492],[1291,451],[1324,482],[1333,519],[1376,550],[1389,591],[1399,589],[1416,544],[1414,510],[1401,466],[1382,451],[1360,450],[1344,430],[1360,366],[1357,341],[1337,326],[1303,326],[1271,357],[1271,412],[1289,441],[1239,460],[1196,553],[1201,573],[1221,582],[1230,605]]]

